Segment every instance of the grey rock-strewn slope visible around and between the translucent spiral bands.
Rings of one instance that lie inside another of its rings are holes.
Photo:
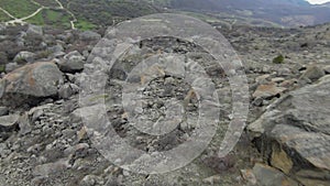
[[[121,80],[153,55],[182,55],[206,68],[216,83],[221,118],[207,150],[189,165],[163,175],[119,168],[94,146],[79,111],[84,68],[101,34],[50,28],[1,26],[0,185],[260,185],[330,183],[330,25],[305,29],[238,26],[220,30],[242,58],[250,86],[249,127],[226,157],[216,155],[231,120],[231,92],[221,67],[202,48],[172,37],[134,45],[109,72],[105,99],[116,132],[142,151],[166,151],[185,142],[196,125],[180,124],[153,138],[129,124]],[[280,57],[282,56],[282,57]],[[275,59],[276,58],[276,59]],[[166,97],[185,100],[190,87],[164,70],[144,90],[157,112]],[[221,76],[219,76],[221,75]],[[156,98],[155,98],[156,97]],[[198,101],[186,114],[194,118]],[[153,113],[148,113],[153,116]],[[194,121],[194,120],[193,120]]]

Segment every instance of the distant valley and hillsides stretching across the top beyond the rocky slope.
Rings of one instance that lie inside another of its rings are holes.
[[[330,22],[330,3],[305,0],[0,0],[0,22],[92,30],[160,12],[213,25],[300,26]]]

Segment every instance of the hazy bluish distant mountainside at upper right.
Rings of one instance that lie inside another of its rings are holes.
[[[315,25],[330,21],[330,9],[305,0],[169,0],[170,9],[262,19],[285,26]],[[243,12],[243,13],[242,13]]]

